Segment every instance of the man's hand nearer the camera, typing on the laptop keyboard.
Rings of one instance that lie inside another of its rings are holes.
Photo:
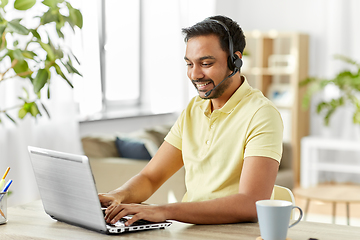
[[[151,222],[163,222],[166,220],[165,212],[164,206],[112,203],[105,211],[105,221],[115,224],[122,217],[134,215],[125,223],[126,226],[129,226],[140,219]]]

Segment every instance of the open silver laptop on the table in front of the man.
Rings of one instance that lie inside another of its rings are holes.
[[[171,222],[144,220],[125,226],[129,217],[107,224],[86,156],[28,147],[45,212],[68,224],[107,234],[164,229]]]

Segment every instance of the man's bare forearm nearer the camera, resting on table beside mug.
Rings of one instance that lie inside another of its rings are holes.
[[[166,219],[194,224],[256,222],[255,199],[244,194],[189,203],[164,205]]]

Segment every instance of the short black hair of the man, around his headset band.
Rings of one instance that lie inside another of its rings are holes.
[[[241,54],[243,54],[246,45],[244,32],[237,22],[221,15],[209,17],[191,27],[183,28],[182,33],[185,35],[185,42],[193,37],[215,34],[219,37],[221,49],[225,52],[229,52],[229,35],[225,28],[215,21],[207,21],[208,19],[215,19],[224,23],[228,27],[232,37],[234,52],[240,51]]]

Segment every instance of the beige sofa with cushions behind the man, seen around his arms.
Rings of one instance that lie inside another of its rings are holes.
[[[98,192],[108,192],[120,187],[135,176],[148,163],[149,159],[137,159],[131,156],[144,149],[150,157],[154,156],[164,137],[170,130],[170,125],[140,129],[133,133],[114,133],[113,135],[89,135],[81,139],[84,154],[90,160]],[[123,148],[119,147],[119,140]],[[137,145],[136,145],[137,144]],[[132,148],[136,145],[136,148]],[[141,145],[141,146],[140,146]],[[138,147],[142,148],[138,148]],[[120,151],[121,150],[121,151]],[[128,153],[126,153],[128,152]],[[130,154],[130,155],[129,155]],[[291,147],[284,144],[283,158],[280,164],[276,184],[293,187],[291,169]],[[163,186],[151,196],[146,203],[164,204],[181,201],[185,194],[185,171],[181,168]]]

